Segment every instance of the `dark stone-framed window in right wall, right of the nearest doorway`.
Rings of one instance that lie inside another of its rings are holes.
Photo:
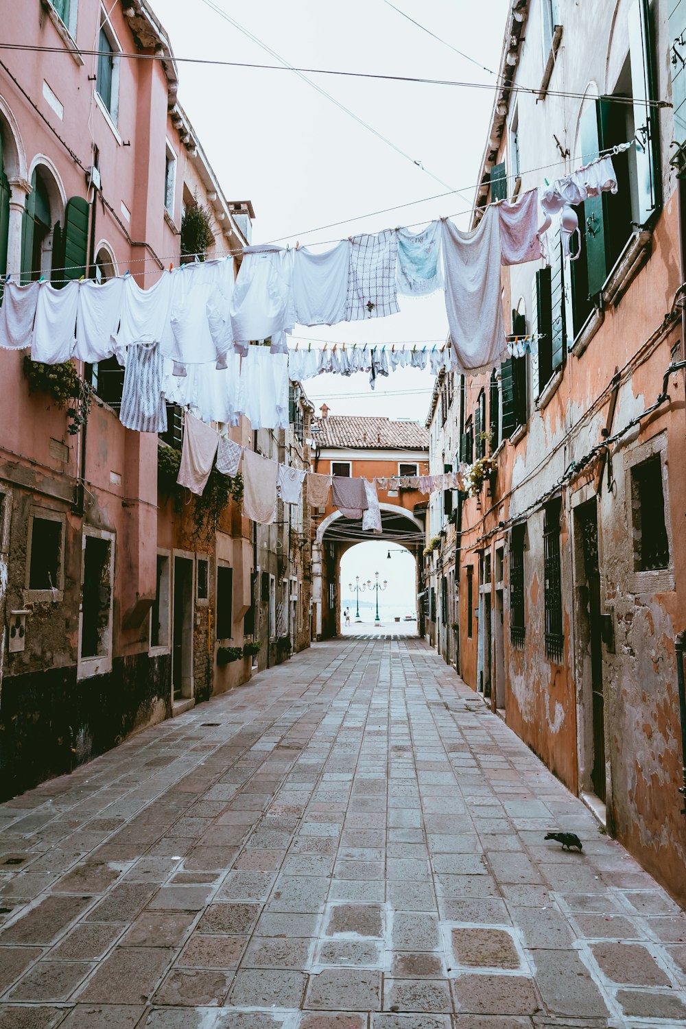
[[[667,568],[670,540],[664,521],[662,460],[659,454],[631,468],[634,570]]]

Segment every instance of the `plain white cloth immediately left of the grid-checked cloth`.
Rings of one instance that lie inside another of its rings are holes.
[[[342,240],[331,250],[308,247],[292,251],[293,308],[299,325],[335,325],[346,316],[352,244]]]

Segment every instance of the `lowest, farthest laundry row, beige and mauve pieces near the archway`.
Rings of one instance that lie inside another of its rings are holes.
[[[299,503],[305,481],[308,499],[313,507],[327,507],[330,500],[345,518],[362,519],[363,530],[370,532],[382,531],[378,490],[408,489],[430,494],[437,490],[465,489],[462,467],[440,475],[388,475],[370,480],[293,468],[242,447],[186,413],[177,483],[201,495],[214,465],[222,474],[231,477],[241,470],[243,513],[261,525],[274,522],[278,497],[287,504]]]

